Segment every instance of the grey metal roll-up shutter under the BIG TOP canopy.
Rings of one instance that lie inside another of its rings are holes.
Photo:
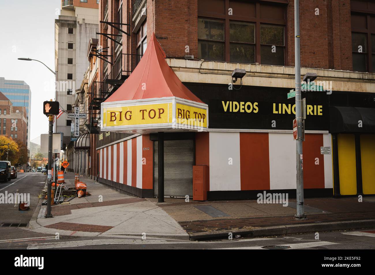
[[[157,141],[154,142],[154,196],[158,192]],[[164,141],[164,197],[193,197],[193,140]]]

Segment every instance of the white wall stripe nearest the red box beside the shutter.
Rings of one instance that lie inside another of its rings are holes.
[[[210,132],[210,191],[220,190],[241,190],[239,132]]]

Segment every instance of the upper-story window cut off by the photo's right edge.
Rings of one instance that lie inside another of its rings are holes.
[[[352,13],[353,71],[375,72],[375,15]]]

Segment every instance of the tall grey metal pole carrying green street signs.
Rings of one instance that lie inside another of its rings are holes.
[[[301,99],[301,53],[300,53],[300,6],[299,0],[294,0],[294,42],[296,67],[296,166],[297,166],[297,214],[296,219],[306,219],[303,200],[303,154],[302,154],[302,99]]]

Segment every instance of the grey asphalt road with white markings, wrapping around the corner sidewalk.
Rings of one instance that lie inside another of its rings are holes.
[[[18,211],[14,204],[0,204],[0,249],[317,249],[356,250],[375,248],[375,228],[335,232],[273,236],[254,239],[178,241],[141,238],[101,238],[60,236],[30,232],[26,227],[2,227],[3,223],[28,223],[39,201],[46,175],[18,174],[17,179],[0,183],[0,193],[30,193],[30,210]],[[373,230],[371,232],[371,230]],[[369,232],[362,232],[369,231]],[[355,254],[355,253],[354,253]]]

